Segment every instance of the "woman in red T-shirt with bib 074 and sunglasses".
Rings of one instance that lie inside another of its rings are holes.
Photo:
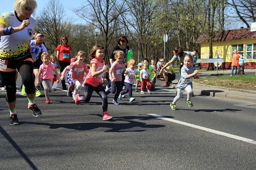
[[[60,67],[60,74],[62,71],[70,65],[72,48],[68,45],[68,38],[63,35],[61,37],[60,45],[56,48],[56,56],[58,67]],[[61,80],[62,89],[67,90],[65,79]]]

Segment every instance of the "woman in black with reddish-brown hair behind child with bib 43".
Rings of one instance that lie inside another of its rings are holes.
[[[115,61],[115,57],[114,57],[114,51],[122,51],[124,53],[124,58],[123,58],[123,64],[125,65],[127,63],[127,54],[131,50],[131,48],[128,46],[128,39],[126,36],[122,35],[118,38],[117,40],[117,45],[113,48],[112,50],[112,53],[109,57],[109,62],[110,62],[110,66],[113,64],[113,62]],[[125,79],[125,76],[124,74],[122,73],[122,86],[124,86],[124,79]],[[108,83],[108,88],[110,87],[110,81]]]

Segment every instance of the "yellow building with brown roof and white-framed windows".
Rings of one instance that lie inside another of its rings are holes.
[[[200,58],[209,58],[208,33],[201,34],[196,43],[201,44]],[[220,68],[231,68],[234,50],[244,55],[246,69],[255,69],[256,62],[256,31],[251,32],[250,28],[226,30],[214,33],[212,42],[212,58],[217,54],[224,58]],[[201,68],[207,68],[208,63],[201,63]]]

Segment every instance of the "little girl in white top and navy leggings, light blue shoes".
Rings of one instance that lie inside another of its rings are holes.
[[[135,79],[135,75],[136,77],[140,77],[140,75],[137,73],[137,70],[135,69],[135,63],[136,62],[134,59],[130,59],[128,61],[128,66],[126,68],[127,73],[124,73],[124,76],[125,76],[124,85],[126,86],[126,89],[119,94],[120,100],[122,100],[122,95],[128,92],[129,92],[130,102],[133,102],[135,100],[135,98],[133,98],[132,86]]]

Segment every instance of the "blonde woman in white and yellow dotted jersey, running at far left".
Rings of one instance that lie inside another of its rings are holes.
[[[16,106],[16,69],[19,71],[28,99],[28,109],[38,117],[41,111],[34,102],[33,60],[29,41],[36,20],[31,17],[37,7],[35,0],[15,0],[13,12],[0,17],[0,73],[6,86],[6,102],[10,110],[10,125],[18,125]]]

